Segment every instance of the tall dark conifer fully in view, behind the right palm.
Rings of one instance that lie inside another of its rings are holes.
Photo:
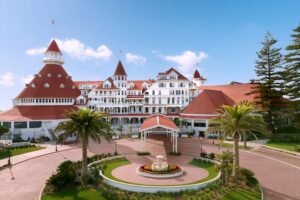
[[[264,117],[270,127],[273,126],[275,112],[282,103],[282,55],[281,48],[274,47],[276,43],[277,40],[270,32],[267,32],[262,42],[263,47],[257,52],[258,59],[255,61],[257,84],[254,87],[254,93],[258,94],[256,103],[265,112]]]

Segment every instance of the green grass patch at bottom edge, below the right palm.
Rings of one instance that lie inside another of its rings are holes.
[[[233,189],[227,193],[221,200],[260,200],[261,196],[259,192],[253,192],[244,189]]]

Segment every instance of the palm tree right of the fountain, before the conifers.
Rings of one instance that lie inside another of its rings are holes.
[[[242,135],[259,132],[264,135],[271,135],[267,124],[264,122],[262,115],[256,113],[253,104],[245,101],[233,106],[222,106],[218,113],[220,118],[210,120],[211,126],[207,132],[221,131],[223,138],[230,136],[234,141],[234,169],[233,175],[239,177],[239,139]]]

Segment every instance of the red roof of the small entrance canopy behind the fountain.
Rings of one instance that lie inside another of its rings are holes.
[[[155,127],[163,127],[171,130],[178,130],[178,127],[174,122],[164,115],[152,115],[144,120],[143,124],[140,126],[140,131],[145,131]]]

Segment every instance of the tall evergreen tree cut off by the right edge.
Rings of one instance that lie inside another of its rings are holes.
[[[285,78],[285,91],[289,97],[290,108],[293,116],[300,121],[300,24],[294,29],[291,35],[292,42],[286,47],[285,55],[286,65],[283,76]],[[298,116],[297,116],[298,115]]]

